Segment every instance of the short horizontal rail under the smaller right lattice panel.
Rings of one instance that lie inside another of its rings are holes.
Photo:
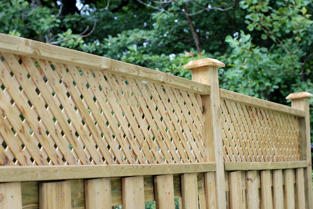
[[[225,171],[277,170],[308,167],[307,161],[295,162],[224,162]]]

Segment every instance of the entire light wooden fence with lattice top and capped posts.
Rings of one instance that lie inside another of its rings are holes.
[[[292,107],[0,34],[0,208],[313,209],[308,92]]]

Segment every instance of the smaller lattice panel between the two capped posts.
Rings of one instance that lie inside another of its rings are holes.
[[[300,161],[298,117],[221,100],[224,161]]]

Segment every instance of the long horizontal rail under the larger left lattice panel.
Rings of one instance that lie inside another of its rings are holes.
[[[216,171],[215,162],[145,165],[1,166],[0,182],[127,177],[212,171]]]

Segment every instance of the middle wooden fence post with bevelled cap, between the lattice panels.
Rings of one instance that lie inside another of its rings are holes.
[[[195,61],[190,61],[184,66],[184,69],[191,70],[192,80],[211,86],[210,95],[202,95],[203,106],[203,128],[205,133],[205,152],[207,162],[216,162],[215,175],[215,193],[216,193],[216,208],[226,209],[226,194],[225,194],[225,176],[224,176],[224,159],[223,159],[223,142],[222,142],[222,127],[221,127],[221,106],[220,92],[218,84],[218,68],[225,67],[225,64],[211,58],[205,58]],[[207,177],[209,175],[206,175]],[[205,181],[208,181],[205,179]],[[205,194],[206,199],[212,198],[210,194]],[[215,202],[209,200],[209,202]],[[208,199],[207,199],[208,203]],[[209,206],[211,208],[215,206]]]

